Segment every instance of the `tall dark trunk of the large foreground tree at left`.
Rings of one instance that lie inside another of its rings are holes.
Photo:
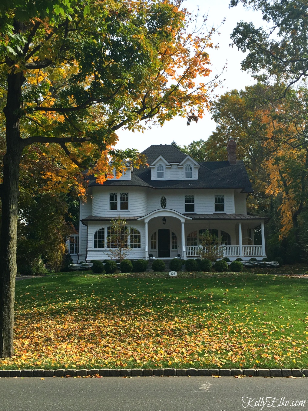
[[[3,157],[1,185],[2,225],[0,238],[0,358],[13,355],[13,326],[18,221],[19,163],[23,150],[20,137],[22,73],[8,75],[6,118],[7,152]]]

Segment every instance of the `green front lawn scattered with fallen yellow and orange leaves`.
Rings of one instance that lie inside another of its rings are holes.
[[[18,281],[15,356],[0,368],[308,368],[307,282],[251,272]]]

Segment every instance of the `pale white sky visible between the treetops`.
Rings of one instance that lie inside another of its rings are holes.
[[[199,14],[208,14],[208,27],[218,27],[223,18],[225,23],[221,25],[218,32],[212,36],[212,41],[219,44],[218,49],[208,49],[209,58],[212,63],[212,72],[220,73],[222,67],[227,62],[227,69],[221,76],[223,79],[222,87],[215,89],[215,94],[223,94],[228,90],[234,88],[243,89],[246,85],[251,85],[254,80],[251,75],[241,71],[241,61],[245,55],[238,51],[236,47],[231,48],[230,34],[235,28],[238,21],[253,21],[255,26],[259,27],[264,23],[262,15],[259,12],[246,10],[241,5],[229,9],[229,0],[186,0],[184,6],[189,12],[196,13],[199,6]],[[201,21],[201,18],[200,18]],[[178,145],[188,145],[194,140],[206,140],[215,130],[216,124],[211,120],[211,115],[205,113],[202,120],[196,124],[192,122],[190,126],[186,125],[185,118],[174,118],[169,122],[165,122],[163,127],[152,126],[151,129],[145,132],[130,132],[128,130],[120,129],[117,134],[119,141],[116,145],[118,149],[136,148],[138,151],[143,151],[151,144],[170,144],[175,140]]]

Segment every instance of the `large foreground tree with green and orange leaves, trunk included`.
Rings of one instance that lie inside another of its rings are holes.
[[[151,119],[163,125],[175,115],[201,118],[209,106],[212,84],[197,83],[197,76],[210,74],[214,29],[190,33],[191,16],[179,6],[177,0],[1,2],[0,357],[13,354],[18,185],[29,147],[41,144],[42,155],[60,164],[60,173],[45,174],[59,190],[76,184],[84,169],[103,182],[113,175],[110,157],[117,175],[126,159],[143,161],[134,150],[113,149],[118,129],[142,129]]]

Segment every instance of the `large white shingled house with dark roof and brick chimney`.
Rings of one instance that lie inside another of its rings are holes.
[[[108,244],[111,219],[126,219],[129,259],[171,259],[199,255],[199,235],[214,233],[225,256],[263,259],[264,218],[247,215],[246,197],[253,192],[236,143],[227,145],[228,161],[196,162],[172,145],[151,145],[143,154],[148,167],[127,164],[120,178],[97,184],[90,180],[87,203],[80,202],[78,247],[74,261],[113,258]],[[261,231],[259,244],[254,232]]]

